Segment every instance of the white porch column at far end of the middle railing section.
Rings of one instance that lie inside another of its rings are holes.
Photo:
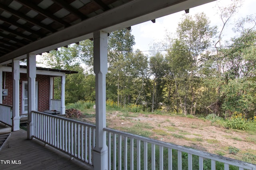
[[[32,111],[36,108],[36,55],[27,54],[28,77],[28,139],[34,135],[34,117]]]

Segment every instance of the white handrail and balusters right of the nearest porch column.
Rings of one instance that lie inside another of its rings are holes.
[[[108,169],[113,169],[116,170],[117,163],[118,163],[118,168],[119,169],[126,169],[128,166],[128,139],[130,139],[130,169],[134,169],[134,139],[136,140],[136,154],[137,154],[137,167],[135,169],[141,169],[141,152],[143,152],[143,157],[144,160],[144,170],[148,169],[148,144],[151,144],[151,166],[152,169],[155,169],[156,166],[156,146],[159,147],[159,169],[164,168],[164,149],[168,149],[168,162],[166,161],[166,164],[168,164],[168,170],[172,169],[172,151],[177,150],[177,155],[178,155],[178,170],[182,170],[182,152],[185,152],[188,154],[188,169],[192,170],[192,155],[198,156],[198,162],[199,162],[199,170],[203,170],[204,168],[204,159],[210,159],[211,160],[211,169],[215,170],[216,169],[216,162],[222,162],[224,163],[224,170],[229,170],[229,165],[237,166],[239,167],[239,170],[256,170],[256,165],[255,164],[250,164],[247,162],[243,162],[240,160],[234,160],[232,158],[227,158],[224,156],[219,156],[216,154],[211,154],[208,152],[200,151],[200,150],[195,150],[187,147],[182,147],[162,141],[157,141],[154,139],[150,139],[147,137],[142,137],[122,131],[117,131],[114,129],[110,128],[104,128],[104,131],[107,132],[107,144],[108,144]],[[118,139],[117,139],[118,136]],[[116,140],[118,140],[118,147],[116,144]],[[124,143],[122,146],[122,142]],[[141,150],[141,143],[143,143],[143,149]],[[111,150],[111,148],[113,150]],[[116,150],[118,148],[118,151]],[[123,149],[123,150],[122,150]],[[111,153],[113,152],[113,153]],[[116,159],[116,156],[118,158]],[[123,158],[123,165],[122,165],[122,158]],[[116,162],[118,160],[118,162]],[[153,161],[152,161],[153,160]],[[113,166],[113,167],[111,167]],[[166,167],[165,167],[166,168]]]

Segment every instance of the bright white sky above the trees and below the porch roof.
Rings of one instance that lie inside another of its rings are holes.
[[[196,13],[204,12],[206,16],[210,19],[212,26],[216,25],[221,27],[222,21],[220,20],[219,14],[217,14],[218,8],[216,7],[216,4],[218,3],[222,5],[228,5],[229,3],[233,2],[234,1],[232,0],[218,0],[210,2],[208,4],[190,8],[189,13],[186,15],[193,16]],[[236,15],[234,15],[234,17],[230,21],[230,24],[224,30],[224,39],[229,40],[230,37],[234,37],[235,35],[235,33],[231,29],[232,27],[234,27],[234,25],[232,25],[231,23],[247,15],[254,14],[254,16],[256,16],[255,7],[256,0],[244,0],[242,7],[238,9],[238,12],[236,13]],[[132,26],[132,35],[134,35],[136,43],[134,45],[134,50],[139,49],[140,51],[148,51],[150,50],[150,45],[152,45],[152,43],[158,43],[163,41],[164,37],[166,37],[166,33],[168,33],[168,35],[173,35],[176,31],[178,22],[180,21],[182,14],[185,14],[185,11],[170,14],[162,18],[157,18],[156,23],[152,23],[152,21],[147,21]]]

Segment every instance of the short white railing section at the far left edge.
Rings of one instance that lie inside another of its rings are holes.
[[[0,122],[12,127],[12,106],[0,104]]]

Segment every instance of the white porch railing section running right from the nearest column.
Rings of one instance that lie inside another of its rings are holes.
[[[107,131],[109,170],[229,170],[231,166],[237,170],[256,170],[254,164],[114,129],[104,130]]]

